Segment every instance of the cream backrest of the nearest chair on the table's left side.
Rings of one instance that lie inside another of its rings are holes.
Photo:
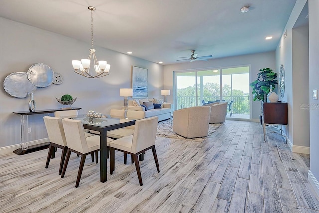
[[[82,122],[80,120],[63,118],[62,123],[68,148],[83,154],[88,153],[89,150]]]

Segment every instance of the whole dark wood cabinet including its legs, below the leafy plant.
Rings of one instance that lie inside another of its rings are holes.
[[[288,125],[288,103],[286,102],[271,102],[264,103],[264,141],[266,141],[266,134],[277,133],[286,138],[287,143],[287,125]],[[280,128],[274,127],[274,125],[280,125]],[[286,135],[283,135],[283,125],[286,127]],[[266,132],[266,126],[272,126],[274,129],[270,132]],[[280,131],[280,133],[278,133]]]

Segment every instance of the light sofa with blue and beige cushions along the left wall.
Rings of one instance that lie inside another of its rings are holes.
[[[140,104],[138,106],[137,102]],[[161,108],[155,108],[155,109],[146,109],[145,107],[141,106],[143,105],[144,102],[152,102],[154,104],[161,104]],[[171,104],[170,103],[162,103],[162,99],[156,99],[156,98],[144,98],[144,99],[133,99],[133,100],[128,100],[128,107],[127,110],[139,110],[139,111],[145,111],[145,117],[153,117],[157,116],[159,117],[158,121],[163,121],[166,119],[171,118]],[[126,109],[126,107],[122,107],[122,109]]]

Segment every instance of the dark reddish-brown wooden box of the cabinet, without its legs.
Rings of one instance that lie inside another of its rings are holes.
[[[288,125],[286,102],[264,103],[264,123]]]

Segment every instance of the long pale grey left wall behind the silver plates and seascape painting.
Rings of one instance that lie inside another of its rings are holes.
[[[97,58],[111,64],[110,74],[98,79],[86,78],[73,72],[71,60],[88,57],[90,40],[78,41],[2,17],[0,21],[0,147],[20,143],[20,117],[12,112],[28,110],[29,101],[28,97],[10,96],[3,88],[3,81],[13,72],[27,72],[36,63],[47,64],[64,77],[60,85],[37,88],[36,109],[60,108],[55,97],[70,94],[77,97],[72,106],[82,107],[80,113],[95,110],[108,114],[110,109],[123,105],[119,88],[131,87],[132,65],[148,69],[149,97],[162,98],[162,65],[95,46]],[[29,116],[30,141],[47,137],[43,116]]]

